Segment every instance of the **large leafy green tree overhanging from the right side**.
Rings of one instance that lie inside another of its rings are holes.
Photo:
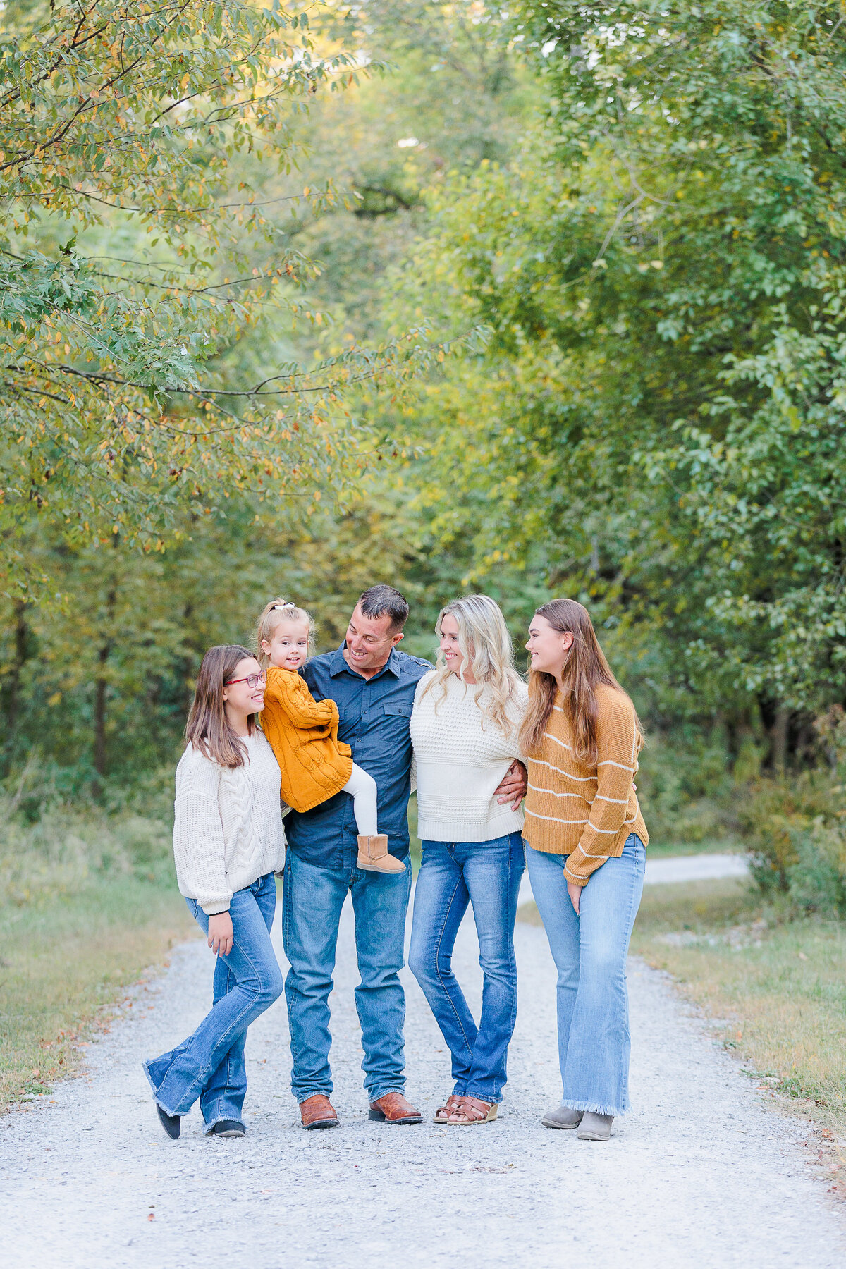
[[[477,576],[496,551],[539,565],[666,716],[761,709],[778,746],[786,713],[846,693],[840,9],[550,0],[516,22],[547,121],[438,192],[397,305],[486,322],[490,359],[434,383],[410,435],[458,402],[436,445],[495,503],[471,522],[450,489]]]

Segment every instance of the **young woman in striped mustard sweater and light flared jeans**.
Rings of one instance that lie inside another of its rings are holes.
[[[625,957],[649,841],[634,787],[643,744],[587,610],[553,599],[535,613],[529,708],[526,867],[558,967],[562,1104],[547,1128],[606,1141],[628,1108]]]

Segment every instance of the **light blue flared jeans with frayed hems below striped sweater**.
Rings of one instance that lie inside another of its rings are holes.
[[[641,904],[646,850],[630,834],[582,888],[580,916],[567,895],[566,855],[526,844],[526,867],[558,968],[558,1060],[563,1105],[619,1115],[629,1105],[629,996],[625,957]]]

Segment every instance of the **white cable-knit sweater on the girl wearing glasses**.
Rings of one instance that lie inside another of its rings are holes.
[[[189,745],[176,768],[176,879],[207,916],[285,862],[279,764],[260,731],[245,745],[244,766],[218,766]]]

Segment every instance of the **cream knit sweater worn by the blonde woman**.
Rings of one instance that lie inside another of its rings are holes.
[[[457,674],[424,695],[435,671],[417,684],[411,714],[411,742],[417,768],[417,832],[424,841],[492,841],[523,827],[523,808],[512,811],[493,791],[515,758],[521,758],[517,728],[529,692],[520,684],[511,703],[515,727],[504,736],[476,704],[477,688]],[[486,690],[486,689],[483,689]],[[482,697],[482,700],[485,698]]]

